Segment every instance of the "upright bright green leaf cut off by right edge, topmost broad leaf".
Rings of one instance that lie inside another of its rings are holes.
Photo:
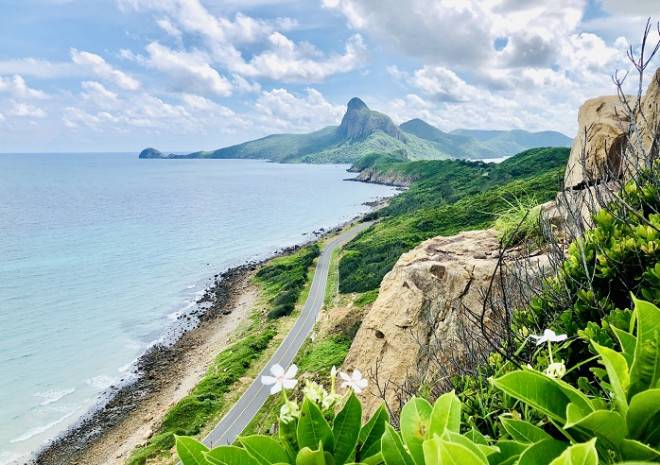
[[[656,387],[660,380],[660,309],[635,297],[633,302],[637,317],[637,345],[635,361],[630,368],[630,378],[634,380],[630,396]]]

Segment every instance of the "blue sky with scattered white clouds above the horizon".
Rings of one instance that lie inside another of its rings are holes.
[[[397,124],[574,137],[656,3],[3,0],[0,152],[211,150],[338,125],[352,97]]]

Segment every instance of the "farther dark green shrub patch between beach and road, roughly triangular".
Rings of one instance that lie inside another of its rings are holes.
[[[273,307],[268,313],[269,319],[293,312],[307,282],[309,268],[320,253],[319,245],[315,243],[293,255],[276,258],[259,270],[255,280],[263,286]]]

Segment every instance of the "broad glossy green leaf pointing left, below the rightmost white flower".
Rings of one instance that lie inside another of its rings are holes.
[[[566,407],[578,401],[583,410],[593,410],[591,402],[572,386],[535,370],[513,371],[490,382],[510,396],[528,404],[550,419],[565,423]]]

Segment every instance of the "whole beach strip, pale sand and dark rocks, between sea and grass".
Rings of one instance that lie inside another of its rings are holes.
[[[123,464],[135,447],[146,443],[167,411],[202,379],[255,308],[255,270],[256,264],[246,264],[218,276],[205,295],[211,305],[195,329],[173,346],[158,347],[142,356],[138,364],[141,374],[135,383],[118,390],[104,408],[55,440],[30,463]]]

